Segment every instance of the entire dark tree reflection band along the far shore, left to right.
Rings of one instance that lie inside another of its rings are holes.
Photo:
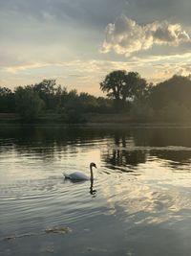
[[[98,147],[97,141],[103,140],[106,145],[100,151],[101,158],[111,169],[121,167],[125,171],[124,167],[132,168],[145,163],[149,155],[169,160],[175,168],[191,161],[190,128],[0,128],[0,152],[14,150],[45,161],[61,158],[65,152],[75,156],[78,153],[76,150],[87,151],[89,147]],[[169,146],[177,148],[174,151],[165,150]],[[159,150],[159,147],[163,149]]]

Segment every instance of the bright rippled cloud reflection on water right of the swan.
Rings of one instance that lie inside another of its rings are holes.
[[[123,175],[123,178],[124,175]],[[123,221],[134,221],[136,224],[180,221],[182,209],[191,208],[189,191],[174,188],[159,189],[138,180],[109,181],[101,187],[103,196],[115,215]]]

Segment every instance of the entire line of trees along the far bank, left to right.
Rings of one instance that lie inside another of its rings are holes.
[[[107,98],[67,90],[55,80],[0,87],[0,113],[18,113],[32,122],[40,114],[53,113],[67,123],[85,122],[86,113],[123,113],[133,121],[189,121],[191,77],[173,76],[153,84],[138,72],[117,70],[100,81]]]

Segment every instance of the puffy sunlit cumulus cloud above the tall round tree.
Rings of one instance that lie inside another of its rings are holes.
[[[101,52],[108,53],[113,50],[117,54],[129,56],[148,50],[154,45],[175,47],[184,42],[191,42],[191,38],[180,24],[155,21],[141,26],[125,15],[120,15],[114,24],[110,23],[106,27]]]

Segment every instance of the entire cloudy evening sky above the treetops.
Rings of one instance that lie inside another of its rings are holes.
[[[102,95],[118,69],[191,73],[190,0],[0,0],[0,86],[55,79]]]

